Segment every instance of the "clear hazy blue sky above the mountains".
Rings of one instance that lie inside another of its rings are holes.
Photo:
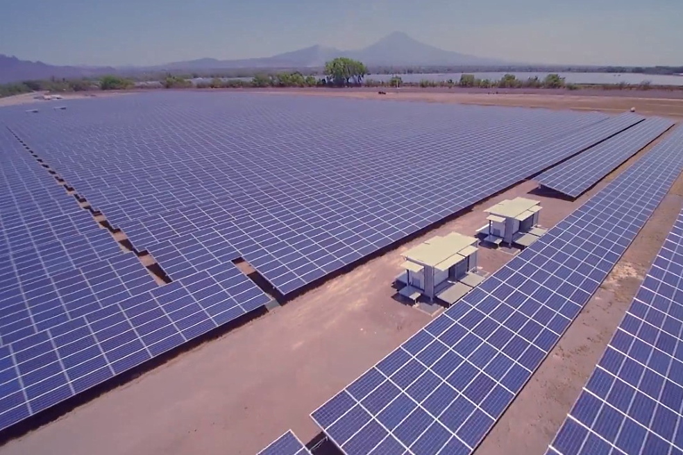
[[[508,61],[683,65],[683,0],[7,0],[0,53],[152,65],[357,49],[392,31]]]

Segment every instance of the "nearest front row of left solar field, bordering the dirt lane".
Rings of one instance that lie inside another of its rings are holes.
[[[232,264],[196,273],[0,346],[0,429],[262,307]]]

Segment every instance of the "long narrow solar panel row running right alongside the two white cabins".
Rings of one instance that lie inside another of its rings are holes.
[[[473,452],[682,171],[682,137],[678,128],[312,418],[346,454]]]

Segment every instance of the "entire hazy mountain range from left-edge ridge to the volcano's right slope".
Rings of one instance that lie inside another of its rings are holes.
[[[364,49],[340,51],[325,46],[310,46],[297,51],[280,53],[272,57],[246,58],[242,60],[217,60],[200,58],[185,62],[171,62],[153,67],[60,67],[43,62],[29,62],[0,54],[0,83],[17,80],[55,78],[82,78],[103,74],[135,71],[206,71],[239,68],[305,68],[321,67],[335,57],[351,57],[372,66],[495,66],[508,62],[480,58],[453,51],[444,51],[424,44],[401,32],[394,32]]]

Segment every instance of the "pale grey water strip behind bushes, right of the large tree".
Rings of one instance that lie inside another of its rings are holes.
[[[476,78],[499,80],[505,76],[505,72],[483,72],[483,73],[467,73],[474,74]],[[538,76],[543,80],[548,74],[544,72],[512,72],[514,76],[521,80],[527,80]],[[649,80],[652,85],[680,85],[683,86],[683,76],[663,75],[663,74],[635,74],[635,73],[558,73],[563,77],[567,83],[571,84],[618,84],[627,83],[637,85],[644,80]],[[419,83],[421,80],[431,80],[440,82],[443,80],[453,79],[457,83],[460,80],[462,73],[433,73],[433,74],[399,74],[403,82]],[[391,74],[371,74],[366,76],[366,79],[388,81],[391,79]]]

